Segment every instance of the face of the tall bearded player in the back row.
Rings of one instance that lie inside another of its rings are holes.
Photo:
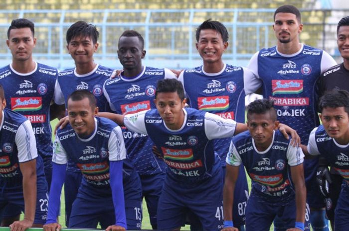
[[[298,35],[302,32],[303,24],[298,22],[296,14],[280,12],[275,15],[273,29],[280,43],[299,43]]]

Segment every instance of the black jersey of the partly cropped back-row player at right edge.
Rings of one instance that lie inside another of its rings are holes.
[[[344,63],[329,68],[319,78],[320,95],[333,89],[349,91],[349,70],[344,67]]]

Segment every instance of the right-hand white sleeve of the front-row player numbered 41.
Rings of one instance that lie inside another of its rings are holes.
[[[218,115],[205,114],[205,133],[208,140],[232,137],[235,133],[236,122],[230,119],[223,119]]]

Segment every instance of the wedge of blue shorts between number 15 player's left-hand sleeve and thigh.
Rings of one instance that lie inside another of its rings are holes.
[[[64,181],[65,225],[68,226],[73,202],[81,185],[81,172],[67,170]]]

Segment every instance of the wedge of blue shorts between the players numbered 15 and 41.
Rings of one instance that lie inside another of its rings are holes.
[[[160,172],[153,175],[140,175],[143,196],[147,202],[150,223],[153,230],[158,229],[157,210],[158,202],[163,191],[166,173]]]

